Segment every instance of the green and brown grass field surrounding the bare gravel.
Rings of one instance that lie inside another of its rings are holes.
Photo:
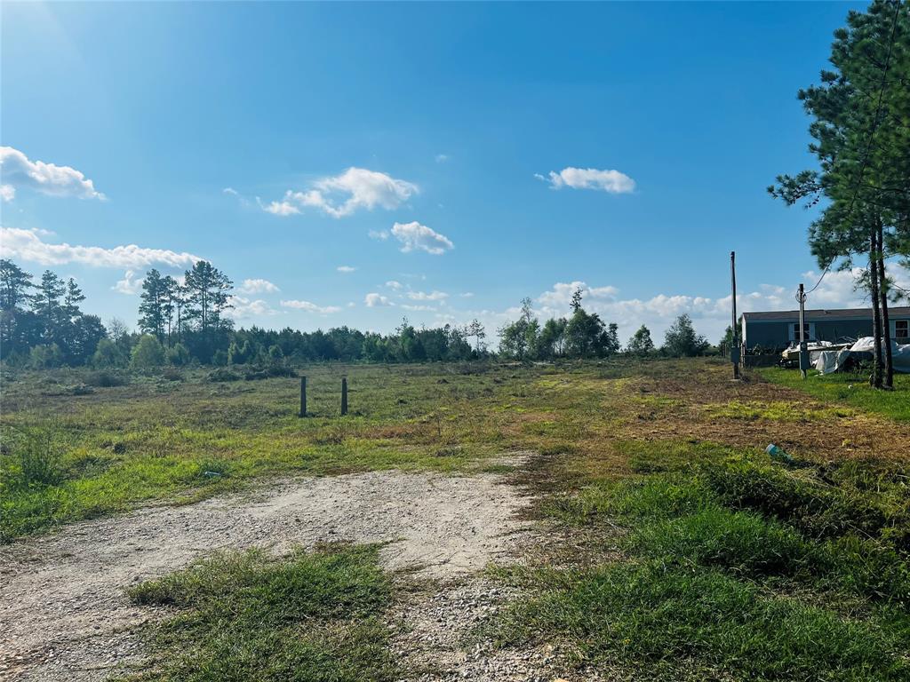
[[[490,569],[522,597],[479,637],[550,642],[570,669],[617,679],[910,678],[905,377],[893,393],[783,370],[736,383],[710,359],[301,372],[306,419],[293,378],[189,370],[93,387],[121,382],[5,371],[5,541],[264,476],[510,472],[533,515],[561,528],[553,543],[573,539]],[[769,443],[794,462],[772,462]],[[495,461],[514,451],[531,464]],[[140,677],[227,679],[235,663],[258,679],[301,666],[307,679],[394,676],[385,581],[375,549],[330,547],[220,556],[136,587],[137,603],[177,609]],[[250,620],[215,632],[227,613]],[[317,624],[306,637],[303,620]],[[268,636],[260,621],[274,622]]]

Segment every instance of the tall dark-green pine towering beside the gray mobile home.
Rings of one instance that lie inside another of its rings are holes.
[[[850,12],[834,34],[831,64],[821,85],[799,93],[814,117],[809,149],[819,170],[778,176],[768,189],[788,205],[826,200],[809,229],[819,266],[850,268],[864,256],[875,323],[872,380],[890,385],[885,261],[910,247],[910,5],[874,0],[866,12]]]

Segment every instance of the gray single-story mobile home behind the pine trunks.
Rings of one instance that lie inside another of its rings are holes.
[[[888,308],[891,337],[910,344],[910,307]],[[805,334],[809,341],[838,341],[872,336],[872,308],[806,310]],[[799,341],[799,311],[743,313],[743,347],[785,348]]]

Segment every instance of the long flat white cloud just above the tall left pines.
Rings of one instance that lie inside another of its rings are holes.
[[[129,244],[104,248],[102,246],[70,246],[47,244],[37,232],[17,227],[0,227],[0,242],[7,257],[39,263],[43,266],[62,266],[81,263],[93,267],[141,269],[162,265],[171,267],[191,266],[199,256],[160,248],[145,248]]]

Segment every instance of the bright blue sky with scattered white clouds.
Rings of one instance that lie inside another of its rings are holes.
[[[495,336],[581,287],[622,339],[716,341],[731,251],[741,311],[821,275],[765,187],[813,166],[796,93],[863,6],[3,3],[0,249],[129,325],[203,258],[238,326]]]

